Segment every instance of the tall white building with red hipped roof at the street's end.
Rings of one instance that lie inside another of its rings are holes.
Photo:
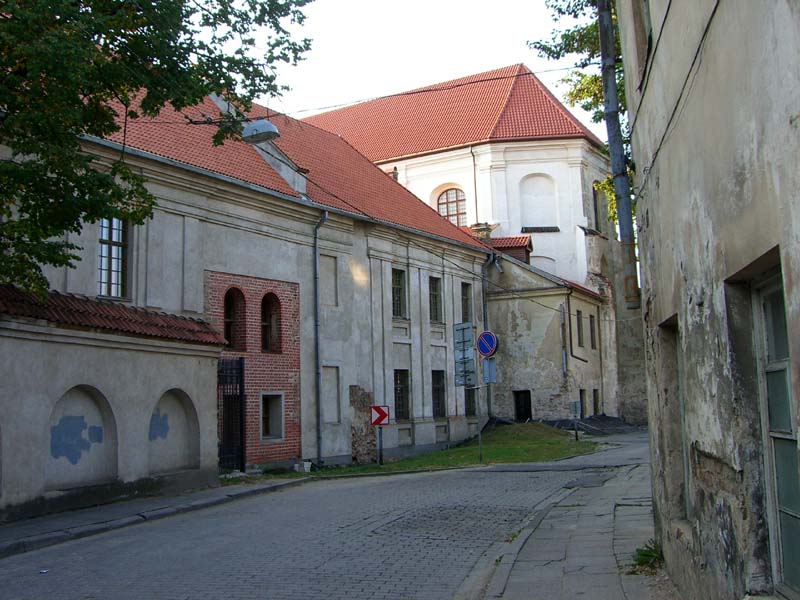
[[[527,67],[437,83],[306,121],[344,137],[452,223],[470,226],[479,236],[490,234],[486,242],[499,251],[512,253],[513,246],[515,258],[527,256],[564,285],[598,295],[595,316],[607,345],[606,383],[590,388],[601,399],[589,402],[585,414],[594,414],[597,406],[604,414],[645,419],[640,315],[617,297],[620,247],[605,199],[593,187],[609,169],[603,144]],[[515,243],[519,236],[530,236],[530,242]],[[528,243],[529,256],[522,251]],[[520,276],[531,278],[528,284],[517,282],[521,289],[540,284],[530,272]],[[577,318],[574,311],[571,317]],[[588,317],[583,319],[588,330]],[[490,324],[501,336],[518,335],[505,329],[504,318]],[[519,352],[528,355],[540,352],[541,343],[543,352],[560,348],[557,339],[518,341]],[[494,406],[504,416],[515,416],[514,394],[532,394],[534,418],[567,416],[569,403],[589,389],[569,378],[554,388],[541,379],[544,371],[530,370],[520,356],[506,354],[508,345],[502,347],[498,361],[505,361],[510,380],[498,386],[501,398]]]

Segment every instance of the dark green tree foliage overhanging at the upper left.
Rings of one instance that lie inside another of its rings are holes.
[[[275,68],[310,45],[287,27],[311,0],[17,0],[0,4],[0,283],[43,292],[42,265],[73,266],[66,234],[154,198],[120,156],[101,167],[81,136],[192,106],[211,92],[246,109],[281,91]],[[124,109],[115,111],[113,106]],[[123,114],[117,114],[121,112]],[[241,125],[220,114],[215,143]]]

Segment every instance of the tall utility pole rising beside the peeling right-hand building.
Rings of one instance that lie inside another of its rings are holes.
[[[617,57],[614,49],[614,24],[611,20],[610,0],[597,0],[597,23],[600,31],[600,58],[603,78],[603,105],[605,108],[608,151],[611,154],[611,172],[614,177],[614,194],[617,197],[617,219],[622,243],[623,273],[625,276],[625,304],[639,308],[641,297],[636,277],[636,252],[633,239],[633,213],[631,210],[631,184],[625,165],[622,147],[622,130],[619,125],[619,96],[617,95]]]

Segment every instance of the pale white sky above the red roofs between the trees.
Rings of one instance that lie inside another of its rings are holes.
[[[305,60],[281,66],[292,90],[269,99],[275,110],[303,118],[465,75],[525,63],[560,99],[570,61],[540,58],[528,47],[557,26],[544,0],[315,0],[292,28],[312,40]],[[569,24],[572,24],[571,22]],[[605,139],[587,113],[573,113]]]

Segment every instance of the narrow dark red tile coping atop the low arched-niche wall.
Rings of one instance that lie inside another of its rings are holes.
[[[10,285],[0,286],[0,313],[123,335],[214,346],[225,344],[225,339],[211,325],[199,319],[58,292],[50,292],[42,300]]]

